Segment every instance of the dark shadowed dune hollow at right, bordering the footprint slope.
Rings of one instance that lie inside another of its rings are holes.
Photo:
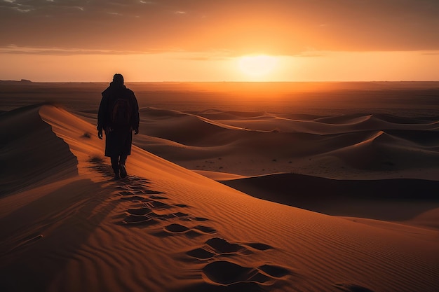
[[[218,179],[221,181],[221,179]],[[243,193],[281,204],[336,216],[410,223],[439,208],[439,181],[421,179],[337,180],[302,174],[225,178]],[[423,221],[437,226],[434,216]]]

